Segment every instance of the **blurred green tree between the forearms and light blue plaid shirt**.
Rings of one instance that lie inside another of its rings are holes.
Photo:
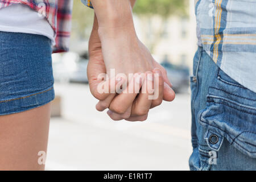
[[[145,30],[148,31],[146,45],[151,52],[154,53],[154,48],[166,32],[168,18],[171,15],[186,17],[188,4],[188,0],[137,0],[133,11],[141,20],[147,22],[149,28]],[[156,16],[160,18],[157,27],[153,20]]]

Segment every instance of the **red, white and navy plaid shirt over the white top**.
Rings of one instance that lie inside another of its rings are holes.
[[[73,0],[0,0],[0,9],[16,3],[28,5],[46,16],[55,31],[53,53],[68,51]]]

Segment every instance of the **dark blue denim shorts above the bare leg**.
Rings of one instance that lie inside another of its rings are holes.
[[[46,36],[0,31],[0,115],[54,99],[51,54]]]

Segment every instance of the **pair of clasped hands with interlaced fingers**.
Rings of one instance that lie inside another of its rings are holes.
[[[137,38],[134,26],[131,27],[133,28],[115,27],[114,30],[99,27],[95,16],[89,40],[90,58],[87,73],[90,91],[99,100],[96,109],[109,109],[107,113],[114,121],[144,121],[150,109],[162,104],[163,100],[172,101],[175,98],[166,70],[153,59],[148,49]],[[136,73],[127,80],[109,78],[114,79],[115,83],[114,88],[110,85],[109,91],[117,90],[118,83],[127,83],[127,87],[122,88],[123,92],[120,94],[99,92],[99,86],[109,86],[109,82],[102,82],[98,76],[102,73],[110,75],[111,69],[114,69],[116,75],[122,73],[128,76],[129,73]],[[142,77],[138,81],[139,75]],[[158,78],[157,82],[154,82],[155,78]],[[158,97],[154,100],[149,99],[148,96],[152,95],[152,92],[148,89],[142,92],[142,87],[146,85],[152,85],[151,88],[158,87]],[[133,92],[125,92],[131,86]]]

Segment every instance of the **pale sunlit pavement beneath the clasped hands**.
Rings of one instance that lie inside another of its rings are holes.
[[[150,111],[145,122],[112,121],[89,86],[55,84],[62,116],[51,118],[47,170],[188,170],[188,93]]]

